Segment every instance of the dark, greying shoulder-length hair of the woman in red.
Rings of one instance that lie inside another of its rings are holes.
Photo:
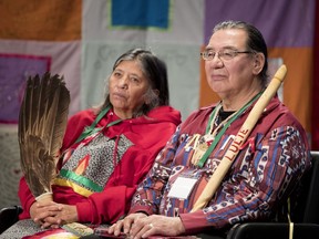
[[[167,69],[166,64],[154,55],[151,51],[143,49],[131,49],[122,54],[114,63],[113,71],[123,61],[137,61],[141,65],[142,72],[145,74],[150,89],[146,92],[147,104],[142,105],[140,108],[135,108],[133,117],[146,115],[151,110],[169,104],[169,92],[167,81]],[[155,94],[154,90],[158,91],[158,95]],[[110,105],[110,95],[106,93],[106,97],[101,107],[97,108],[100,112]]]

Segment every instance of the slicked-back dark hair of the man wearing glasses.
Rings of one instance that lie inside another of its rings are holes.
[[[243,29],[247,32],[247,50],[253,52],[261,52],[265,55],[265,64],[259,73],[259,79],[261,81],[263,86],[267,85],[268,81],[268,52],[267,52],[267,44],[261,32],[255,28],[254,25],[244,22],[244,21],[224,21],[215,25],[213,33],[218,30],[224,29]]]

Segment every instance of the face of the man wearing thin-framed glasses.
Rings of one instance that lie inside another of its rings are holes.
[[[212,52],[249,51],[246,46],[247,33],[241,29],[225,29],[215,32],[206,50]],[[229,95],[246,94],[256,81],[254,72],[254,54],[239,53],[231,59],[219,58],[205,61],[207,82],[222,98]]]

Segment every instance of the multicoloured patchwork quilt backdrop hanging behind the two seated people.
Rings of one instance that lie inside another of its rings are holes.
[[[146,48],[166,62],[171,104],[185,119],[218,101],[199,52],[223,20],[260,29],[269,46],[269,74],[282,63],[288,67],[280,98],[308,132],[312,149],[319,149],[316,8],[316,0],[0,0],[0,190],[8,191],[0,208],[19,204],[17,122],[30,75],[63,75],[72,115],[103,101],[117,56]]]

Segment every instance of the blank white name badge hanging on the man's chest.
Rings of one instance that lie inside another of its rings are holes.
[[[187,199],[196,181],[197,178],[177,177],[167,196],[171,198]]]

